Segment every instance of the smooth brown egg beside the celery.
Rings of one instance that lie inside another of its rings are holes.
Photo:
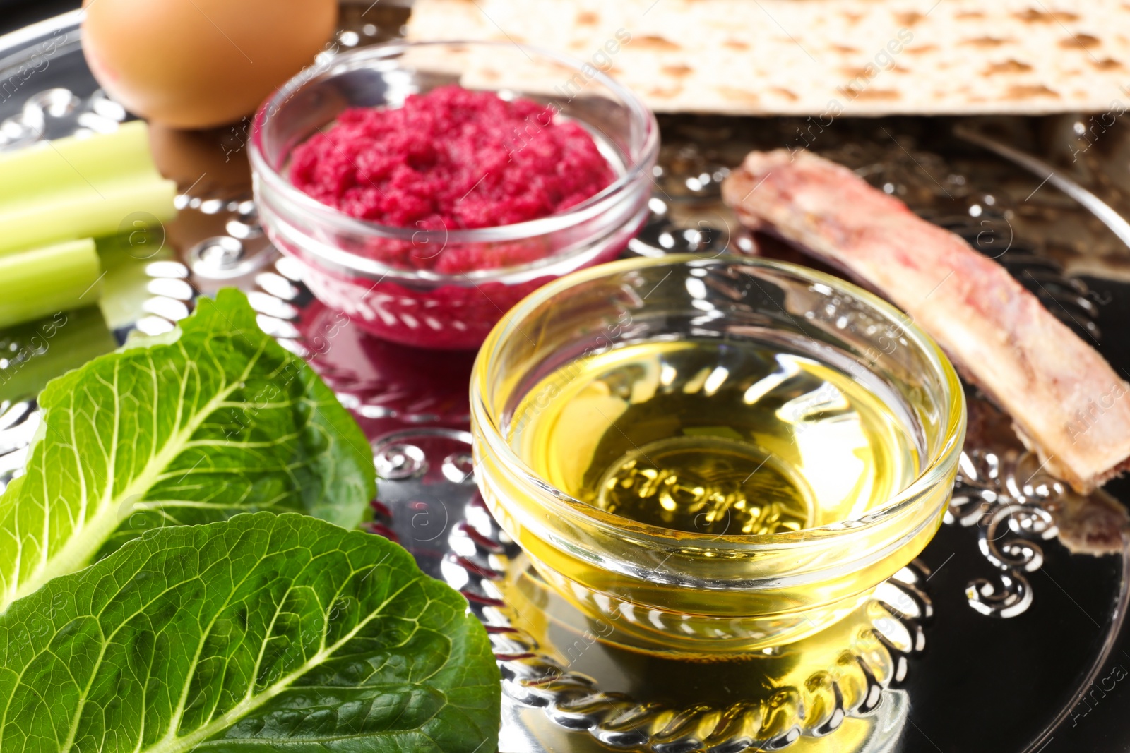
[[[131,112],[176,128],[255,111],[327,47],[337,0],[85,0],[82,50]]]

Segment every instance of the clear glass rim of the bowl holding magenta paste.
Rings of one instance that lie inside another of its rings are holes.
[[[268,114],[272,110],[277,114],[280,107],[289,100],[299,89],[306,86],[320,86],[325,81],[351,70],[371,67],[384,60],[395,60],[395,58],[411,49],[428,46],[469,46],[469,47],[516,47],[520,52],[531,58],[541,58],[550,62],[564,65],[572,71],[583,72],[583,67],[592,68],[596,73],[588,76],[589,81],[598,81],[615,94],[627,107],[631,120],[640,124],[644,130],[644,140],[637,150],[633,150],[628,157],[631,165],[623,175],[606,186],[599,193],[590,196],[579,204],[570,207],[565,211],[523,222],[512,225],[499,225],[486,228],[461,228],[455,230],[420,230],[414,228],[381,225],[370,220],[359,219],[346,214],[345,212],[323,204],[313,196],[295,187],[281,173],[268,161],[263,155],[262,139],[267,122],[275,115]],[[251,161],[252,174],[255,181],[263,181],[272,192],[277,192],[282,200],[297,208],[301,212],[314,217],[319,222],[331,226],[337,231],[350,233],[362,237],[380,237],[393,240],[416,243],[424,239],[426,243],[443,242],[453,244],[475,243],[497,243],[507,240],[521,240],[544,236],[550,233],[565,230],[603,213],[612,205],[625,201],[641,176],[651,178],[646,174],[650,165],[659,156],[659,123],[654,113],[647,108],[643,100],[629,88],[619,84],[614,78],[596,68],[591,63],[583,62],[570,55],[545,50],[542,47],[516,44],[510,42],[475,41],[475,40],[428,40],[428,41],[392,41],[381,44],[368,45],[349,52],[340,53],[331,58],[313,76],[307,76],[306,70],[299,71],[286,84],[279,87],[259,110],[252,121],[251,139],[249,142],[249,159]],[[568,259],[582,249],[566,253],[554,253],[544,259],[532,262],[502,266],[489,270],[473,270],[469,273],[438,273],[432,270],[401,269],[384,264],[373,259],[355,254],[345,249],[337,249],[332,259],[328,259],[331,264],[346,265],[356,272],[367,275],[388,275],[391,279],[421,280],[437,283],[463,282],[475,279],[495,279],[512,274],[521,274],[541,266]]]

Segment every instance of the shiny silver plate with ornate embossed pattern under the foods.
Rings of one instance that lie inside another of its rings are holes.
[[[360,9],[342,6],[340,47],[397,36],[407,12],[381,8],[363,19]],[[16,82],[0,102],[0,150],[114,129],[128,117],[90,77],[78,21],[68,14],[0,37],[0,81]],[[1069,131],[1070,120],[1041,128]],[[1130,280],[1130,226],[1109,208],[1105,224],[1096,219],[1101,192],[1070,178],[1032,191],[1054,156],[1015,150],[1035,128],[1029,121],[841,119],[814,131],[801,119],[662,117],[653,214],[628,253],[759,249],[803,263],[746,234],[720,204],[719,183],[751,148],[812,148],[963,235],[1115,366],[1130,362],[1130,341],[1107,324],[1119,322],[1121,281]],[[1130,143],[1124,131],[1115,138]],[[472,354],[374,341],[314,300],[259,227],[246,123],[200,139],[225,167],[194,181],[209,170],[190,160],[171,176],[181,216],[131,253],[144,262],[144,290],[113,323],[115,334],[167,331],[198,296],[225,284],[249,291],[261,326],[307,358],[368,434],[381,476],[368,528],[460,589],[487,627],[503,674],[501,750],[1054,753],[1120,728],[1130,549],[1113,500],[1130,498],[1130,485],[1112,483],[1099,501],[1074,497],[971,389],[971,431],[946,525],[859,613],[805,646],[732,662],[618,653],[600,640],[607,624],[545,587],[476,491],[466,389]],[[35,357],[17,332],[0,332],[0,353],[6,348],[12,356],[0,358],[2,369]],[[34,395],[0,400],[0,485],[20,472],[36,426]],[[1107,553],[1072,553],[1078,546],[1064,541],[1094,516],[1113,522]]]

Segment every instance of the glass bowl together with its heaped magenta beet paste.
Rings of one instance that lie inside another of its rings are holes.
[[[624,249],[658,150],[654,116],[593,64],[402,42],[296,76],[250,155],[263,227],[319,299],[386,340],[471,349],[534,289]]]

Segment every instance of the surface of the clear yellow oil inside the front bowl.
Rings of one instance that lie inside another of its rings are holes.
[[[529,395],[539,400],[519,405],[511,445],[536,474],[675,531],[765,535],[846,520],[919,471],[913,436],[886,401],[827,364],[756,342],[631,344],[574,361]]]

